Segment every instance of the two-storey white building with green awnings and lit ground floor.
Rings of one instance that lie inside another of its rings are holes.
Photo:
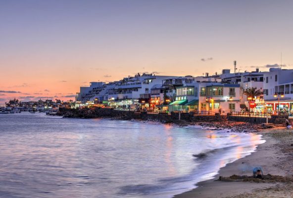
[[[194,82],[176,88],[176,100],[169,111],[195,111],[197,113],[228,113],[241,111],[239,84]]]

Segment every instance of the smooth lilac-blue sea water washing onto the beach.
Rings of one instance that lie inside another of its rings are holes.
[[[170,198],[248,155],[260,139],[151,122],[0,114],[0,197]],[[207,156],[193,157],[201,152]]]

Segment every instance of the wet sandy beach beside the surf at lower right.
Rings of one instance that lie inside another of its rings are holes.
[[[293,130],[266,129],[258,134],[266,140],[256,152],[221,168],[215,179],[198,183],[192,191],[174,198],[293,198]],[[287,176],[283,183],[224,182],[219,176],[252,175],[247,167],[261,166],[264,174]]]

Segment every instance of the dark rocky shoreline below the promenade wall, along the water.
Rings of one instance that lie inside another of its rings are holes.
[[[182,114],[181,120],[178,114],[147,114],[146,112],[119,111],[110,108],[95,109],[59,109],[56,115],[64,118],[110,118],[118,120],[143,120],[155,121],[164,124],[187,127],[199,125],[208,130],[227,130],[227,132],[251,133],[262,129],[273,128],[273,125],[253,124],[239,121],[229,121],[226,116],[193,116]]]

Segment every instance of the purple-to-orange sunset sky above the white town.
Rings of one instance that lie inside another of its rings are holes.
[[[138,72],[293,68],[293,0],[0,0],[0,103]]]

